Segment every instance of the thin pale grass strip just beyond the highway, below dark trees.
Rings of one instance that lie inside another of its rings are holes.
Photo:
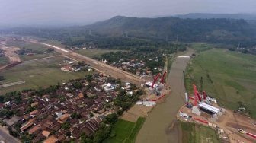
[[[94,56],[101,56],[104,53],[107,52],[117,52],[120,50],[115,50],[115,49],[79,49],[75,52],[78,52],[79,54],[83,56],[88,56],[93,58]]]

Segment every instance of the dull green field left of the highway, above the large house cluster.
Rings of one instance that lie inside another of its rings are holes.
[[[58,82],[69,81],[69,79],[83,78],[89,73],[61,71],[59,63],[62,63],[63,59],[63,57],[57,56],[49,59],[27,61],[14,68],[0,71],[0,75],[5,77],[5,80],[1,81],[0,84],[26,81],[25,84],[0,88],[0,94],[10,91],[21,91],[24,88],[49,87]]]

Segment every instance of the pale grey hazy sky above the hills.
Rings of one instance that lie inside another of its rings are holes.
[[[0,0],[0,25],[88,24],[116,15],[255,13],[256,0]]]

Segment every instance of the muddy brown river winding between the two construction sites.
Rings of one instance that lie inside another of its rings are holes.
[[[188,49],[183,55],[191,56],[193,52],[192,49]],[[172,63],[167,80],[167,84],[171,87],[171,94],[149,113],[139,131],[136,143],[181,142],[181,131],[177,128],[175,116],[178,109],[184,104],[183,71],[188,61],[188,58],[176,58]]]

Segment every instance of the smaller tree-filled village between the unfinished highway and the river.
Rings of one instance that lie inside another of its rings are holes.
[[[165,54],[157,51],[110,52],[94,58],[147,79],[162,72],[165,66]]]

